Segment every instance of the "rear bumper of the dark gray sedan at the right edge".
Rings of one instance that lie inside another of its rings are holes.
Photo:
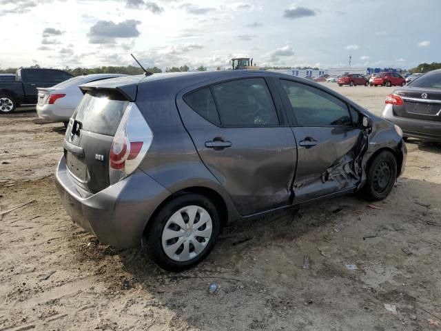
[[[386,105],[381,115],[384,119],[389,119],[402,129],[404,137],[419,138],[429,141],[441,142],[441,122],[424,121],[422,119],[409,119],[408,117],[398,117],[393,114],[393,105]]]

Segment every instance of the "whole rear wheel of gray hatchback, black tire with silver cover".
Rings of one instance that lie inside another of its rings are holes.
[[[143,235],[147,255],[161,268],[179,272],[200,263],[220,231],[214,203],[200,194],[183,194],[163,206]]]

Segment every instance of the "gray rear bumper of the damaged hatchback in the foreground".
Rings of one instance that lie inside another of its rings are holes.
[[[64,157],[55,177],[61,203],[72,220],[116,248],[137,247],[154,210],[171,194],[141,170],[91,194],[76,185]]]

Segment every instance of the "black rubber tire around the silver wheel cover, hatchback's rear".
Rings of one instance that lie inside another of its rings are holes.
[[[196,205],[204,208],[212,220],[212,234],[203,251],[188,261],[175,261],[165,254],[162,245],[163,230],[172,215],[186,206]],[[210,199],[201,194],[183,194],[168,202],[150,220],[151,225],[147,233],[143,234],[142,245],[145,253],[159,267],[167,271],[180,272],[192,268],[203,261],[214,248],[220,232],[219,212]]]

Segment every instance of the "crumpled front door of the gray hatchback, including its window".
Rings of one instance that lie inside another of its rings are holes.
[[[356,112],[351,114],[347,103],[320,88],[284,79],[280,83],[295,122],[294,203],[356,188],[360,174],[355,160],[363,138],[353,118]]]

